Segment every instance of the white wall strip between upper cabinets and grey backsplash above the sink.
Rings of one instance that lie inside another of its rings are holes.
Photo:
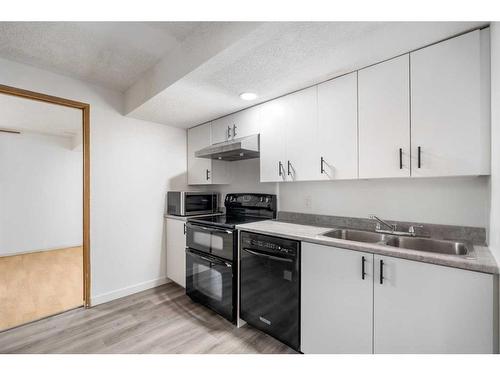
[[[434,224],[488,225],[488,177],[280,183],[280,210]]]

